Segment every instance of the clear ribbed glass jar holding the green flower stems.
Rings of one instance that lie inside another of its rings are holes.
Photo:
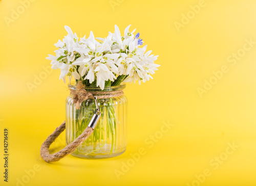
[[[69,85],[69,88],[76,90],[76,86]],[[99,87],[85,87],[86,91],[106,92],[123,90],[125,85],[106,87],[101,90]],[[91,136],[88,137],[71,154],[84,158],[108,158],[122,154],[126,150],[126,115],[127,98],[124,95],[105,99],[97,98],[101,117],[98,125]],[[73,142],[88,126],[93,114],[96,112],[94,99],[84,100],[80,108],[75,108],[72,95],[66,99],[66,143]]]

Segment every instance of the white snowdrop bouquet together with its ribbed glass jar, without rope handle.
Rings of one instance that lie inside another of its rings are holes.
[[[79,39],[69,26],[65,26],[68,35],[55,44],[58,47],[55,50],[56,56],[49,55],[47,58],[52,60],[53,69],[60,69],[60,78],[64,82],[66,76],[69,77],[69,81],[73,77],[76,79],[76,88],[70,85],[71,93],[74,90],[81,92],[98,90],[98,94],[106,94],[106,96],[98,96],[97,105],[88,97],[81,100],[79,98],[80,102],[75,100],[74,95],[67,98],[67,144],[72,143],[82,134],[97,106],[101,113],[101,119],[93,134],[76,149],[73,155],[90,158],[111,157],[125,151],[127,100],[122,95],[125,86],[120,83],[146,82],[160,66],[154,63],[158,56],[150,55],[151,50],[145,52],[146,45],[140,47],[143,44],[142,39],[139,38],[140,34],[134,35],[135,30],[129,32],[130,26],[127,26],[124,36],[121,36],[118,26],[115,25],[115,32],[110,32],[106,38],[96,38],[99,41],[94,38],[93,32],[87,39],[86,36]],[[112,95],[108,91],[112,91]],[[77,95],[82,95],[81,92]]]

